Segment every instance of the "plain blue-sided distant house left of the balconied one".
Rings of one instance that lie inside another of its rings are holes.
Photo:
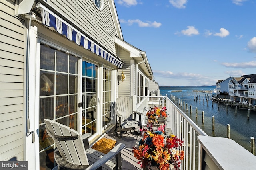
[[[228,83],[233,77],[226,78],[225,80],[218,80],[216,83],[216,90],[218,98],[230,98],[228,96]]]

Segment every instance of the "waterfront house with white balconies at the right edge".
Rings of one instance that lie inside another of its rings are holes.
[[[256,74],[232,78],[228,89],[231,100],[256,105]]]

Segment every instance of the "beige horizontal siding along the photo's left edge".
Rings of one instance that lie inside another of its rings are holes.
[[[0,1],[0,160],[24,160],[24,20]]]

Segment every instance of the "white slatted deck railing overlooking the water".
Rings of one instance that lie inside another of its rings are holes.
[[[201,150],[200,144],[196,140],[198,135],[208,136],[200,127],[198,127],[181,109],[179,109],[166,96],[137,96],[143,98],[144,102],[140,103],[139,111],[149,110],[150,107],[166,107],[167,114],[167,128],[172,130],[172,133],[184,141],[181,150],[184,150],[184,160],[182,161],[183,170],[200,169]],[[145,109],[146,107],[146,109]],[[144,108],[144,109],[140,109]],[[146,115],[146,111],[144,111]],[[146,124],[146,117],[143,122]]]

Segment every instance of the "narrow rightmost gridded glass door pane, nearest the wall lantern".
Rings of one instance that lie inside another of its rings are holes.
[[[103,68],[103,111],[102,127],[108,127],[111,123],[111,70]]]

